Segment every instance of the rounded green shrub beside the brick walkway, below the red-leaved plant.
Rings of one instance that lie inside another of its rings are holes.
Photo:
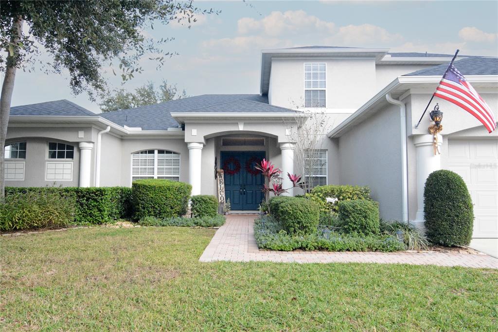
[[[276,205],[277,219],[289,234],[306,235],[316,232],[320,209],[315,202],[306,198],[285,197],[277,200]]]

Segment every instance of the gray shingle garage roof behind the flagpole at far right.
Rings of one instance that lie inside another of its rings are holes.
[[[498,58],[463,58],[454,62],[462,75],[498,75]],[[443,75],[448,64],[414,71],[403,76]]]

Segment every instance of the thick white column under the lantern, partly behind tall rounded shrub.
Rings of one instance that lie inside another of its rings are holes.
[[[430,173],[441,169],[441,155],[434,155],[434,136],[417,135],[413,144],[417,152],[417,214],[413,221],[419,228],[424,228],[424,187]],[[438,135],[438,146],[441,150],[443,137]]]

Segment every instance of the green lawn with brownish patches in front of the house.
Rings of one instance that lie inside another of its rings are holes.
[[[1,237],[0,330],[497,331],[494,270],[200,263],[213,229]]]

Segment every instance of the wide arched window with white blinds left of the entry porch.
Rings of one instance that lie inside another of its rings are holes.
[[[131,156],[131,179],[180,180],[180,155],[166,150],[145,150]]]

